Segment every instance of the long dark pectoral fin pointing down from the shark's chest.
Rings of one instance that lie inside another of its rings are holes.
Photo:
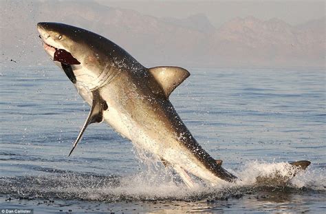
[[[87,128],[87,126],[94,122],[102,122],[103,121],[103,111],[105,111],[105,110],[107,110],[107,102],[105,102],[105,100],[102,99],[98,90],[94,91],[91,110],[89,111],[89,115],[87,116],[87,119],[83,125],[83,128],[80,129],[78,137],[77,137],[76,141],[74,142],[74,146],[72,147],[72,150],[70,151],[68,156],[70,156],[72,154],[72,151],[74,151],[80,138],[83,136],[83,133],[84,133],[85,129]]]

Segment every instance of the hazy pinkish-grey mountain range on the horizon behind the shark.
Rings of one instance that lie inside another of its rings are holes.
[[[204,14],[157,18],[96,3],[1,1],[0,65],[49,63],[39,21],[86,28],[124,47],[145,66],[325,67],[325,17],[290,25],[235,18],[215,28]]]

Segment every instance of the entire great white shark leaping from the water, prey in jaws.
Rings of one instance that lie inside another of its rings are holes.
[[[71,25],[38,23],[37,29],[47,54],[91,106],[72,151],[89,124],[105,120],[189,187],[195,186],[190,175],[213,186],[237,180],[198,144],[170,103],[170,94],[190,75],[186,69],[146,68],[109,39]]]

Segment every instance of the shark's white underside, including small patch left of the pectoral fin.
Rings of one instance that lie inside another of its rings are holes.
[[[78,93],[89,105],[91,105],[91,96],[89,96],[87,89],[79,87]],[[187,171],[212,185],[225,182],[206,169],[202,162],[193,156],[191,151],[182,147],[171,131],[164,131],[160,129],[160,126],[157,126],[157,129],[160,130],[155,130],[153,134],[153,124],[147,127],[140,125],[139,122],[135,121],[132,116],[127,113],[127,111],[124,111],[124,107],[121,103],[116,103],[114,99],[111,99],[109,96],[103,98],[107,100],[108,105],[107,111],[103,112],[105,122],[124,138],[131,140],[138,150],[149,152],[158,159],[163,158],[169,162],[171,167],[180,175],[182,175],[184,171]],[[186,175],[186,173],[184,174]],[[181,177],[187,184],[192,183],[190,177]]]

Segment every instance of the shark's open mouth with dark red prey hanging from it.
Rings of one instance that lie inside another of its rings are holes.
[[[53,47],[52,45],[49,45],[44,41],[43,41],[43,47],[45,50],[54,52],[53,60],[60,62],[61,67],[63,68],[63,71],[65,72],[69,80],[72,81],[72,83],[76,83],[77,80],[74,71],[72,69],[72,65],[80,65],[80,62],[66,50]]]

